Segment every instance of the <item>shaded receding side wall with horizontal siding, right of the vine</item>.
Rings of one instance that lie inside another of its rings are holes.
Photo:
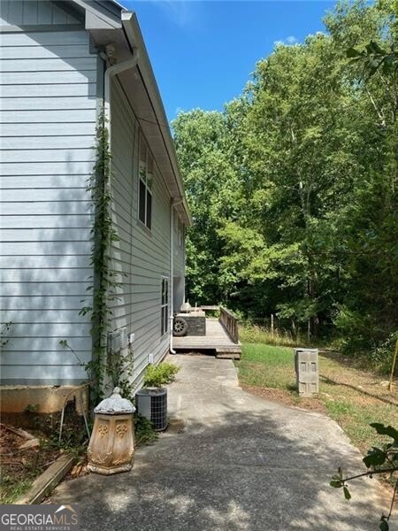
[[[169,335],[161,336],[161,282],[170,290],[170,194],[155,165],[152,227],[138,219],[139,146],[142,133],[119,82],[111,89],[112,218],[119,235],[113,242],[112,266],[122,273],[119,300],[113,303],[111,327],[134,333],[134,380],[142,380],[149,354],[157,363],[168,350]],[[149,146],[150,148],[150,146]]]

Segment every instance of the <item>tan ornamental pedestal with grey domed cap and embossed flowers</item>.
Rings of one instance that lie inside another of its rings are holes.
[[[93,433],[88,444],[88,468],[91,472],[110,475],[127,472],[134,458],[134,405],[113,389],[94,410]]]

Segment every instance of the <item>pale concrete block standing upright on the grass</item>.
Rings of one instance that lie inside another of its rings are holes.
[[[319,393],[318,349],[294,349],[295,378],[300,396]]]

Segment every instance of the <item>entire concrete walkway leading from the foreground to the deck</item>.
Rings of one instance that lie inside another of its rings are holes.
[[[251,396],[232,361],[173,356],[181,367],[169,411],[182,433],[135,454],[131,473],[90,474],[59,486],[54,503],[80,504],[88,531],[375,531],[375,480],[329,487],[361,456],[331,419]],[[391,528],[395,528],[391,526]]]

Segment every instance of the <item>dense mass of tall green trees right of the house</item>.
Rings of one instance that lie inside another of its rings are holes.
[[[377,358],[398,319],[394,4],[341,2],[325,26],[261,59],[225,112],[175,120],[188,291]]]

